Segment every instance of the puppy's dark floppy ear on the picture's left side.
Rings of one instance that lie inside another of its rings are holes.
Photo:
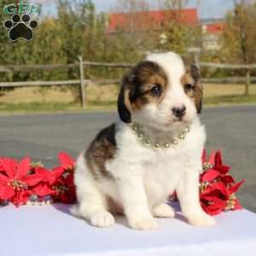
[[[124,75],[121,83],[121,90],[118,97],[118,112],[120,119],[125,123],[131,123],[131,80],[133,79],[131,73]]]

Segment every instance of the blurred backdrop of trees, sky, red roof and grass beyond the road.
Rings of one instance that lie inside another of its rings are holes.
[[[0,112],[115,108],[125,69],[167,50],[201,67],[205,104],[256,102],[255,1],[30,3],[41,9],[32,41],[10,42],[0,29]],[[1,24],[9,18],[1,11]]]

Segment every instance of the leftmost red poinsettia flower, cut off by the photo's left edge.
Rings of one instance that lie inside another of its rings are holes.
[[[0,198],[12,201],[15,206],[26,203],[32,194],[31,186],[40,182],[41,177],[29,174],[31,161],[28,157],[17,163],[15,160],[4,158],[3,173],[0,174]]]

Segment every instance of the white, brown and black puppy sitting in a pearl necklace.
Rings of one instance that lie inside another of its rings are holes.
[[[172,52],[148,55],[125,74],[119,119],[79,155],[73,214],[108,227],[114,214],[124,213],[131,228],[152,230],[154,217],[174,217],[165,201],[176,190],[190,224],[214,224],[199,201],[201,99],[198,68]]]

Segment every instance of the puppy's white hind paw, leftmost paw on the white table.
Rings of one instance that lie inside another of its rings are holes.
[[[91,214],[90,223],[94,226],[105,228],[114,224],[114,218],[110,212],[97,210]]]

